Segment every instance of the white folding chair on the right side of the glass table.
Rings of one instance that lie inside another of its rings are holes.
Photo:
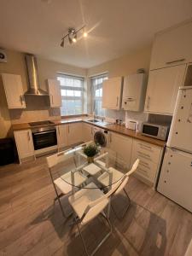
[[[125,190],[125,185],[128,183],[128,180],[129,180],[129,177],[130,175],[135,172],[137,170],[137,167],[138,167],[138,164],[139,164],[139,159],[137,159],[134,164],[132,165],[131,167],[131,170],[129,172],[126,172],[125,174],[123,174],[122,172],[119,172],[118,170],[114,169],[113,167],[109,167],[108,168],[108,171],[109,172],[112,172],[112,184],[117,181],[117,180],[120,180],[122,178],[125,178],[124,179],[124,182],[121,183],[121,185],[119,186],[119,189],[116,189],[115,193],[113,193],[113,196],[115,195],[118,195],[121,191],[124,191],[127,199],[128,199],[128,204],[127,206],[125,207],[125,210],[121,216],[121,218],[124,218],[125,216],[125,213],[127,212],[128,208],[130,207],[130,204],[131,204],[131,200],[130,200],[130,197],[129,195],[127,194],[126,190]],[[103,166],[103,164],[102,164]],[[98,177],[98,181],[100,183],[102,183],[102,185],[104,187],[110,187],[110,184],[109,184],[109,175],[108,175],[108,172],[104,172],[100,177]],[[113,186],[113,185],[112,185]],[[118,214],[116,213],[113,205],[112,206],[112,209],[113,209],[113,212],[115,213],[116,217],[119,218]]]

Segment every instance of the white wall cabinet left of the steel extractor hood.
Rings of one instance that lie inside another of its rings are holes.
[[[26,108],[20,75],[3,73],[2,79],[8,108]]]

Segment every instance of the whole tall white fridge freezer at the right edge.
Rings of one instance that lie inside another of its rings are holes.
[[[178,90],[157,190],[192,212],[192,86]]]

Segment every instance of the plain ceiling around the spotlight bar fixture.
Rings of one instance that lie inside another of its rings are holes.
[[[1,0],[0,46],[78,67],[151,44],[154,33],[192,17],[191,0]],[[70,26],[88,38],[61,48]]]

